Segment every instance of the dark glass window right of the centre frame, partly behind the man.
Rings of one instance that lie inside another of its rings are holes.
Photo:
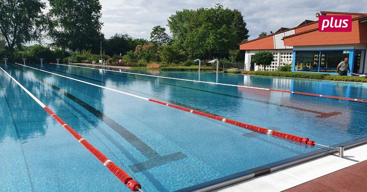
[[[343,53],[343,50],[321,51],[320,72],[337,72],[337,66],[344,58],[349,58],[349,53]]]

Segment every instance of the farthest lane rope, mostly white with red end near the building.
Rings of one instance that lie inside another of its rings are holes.
[[[50,64],[56,64],[56,63],[50,63]],[[63,64],[59,64],[59,65],[63,65]],[[337,96],[329,96],[329,95],[319,95],[319,94],[313,94],[313,93],[302,93],[302,92],[294,92],[294,91],[280,90],[280,89],[267,89],[267,88],[250,87],[250,86],[242,86],[242,85],[232,85],[232,84],[225,84],[225,83],[214,83],[214,82],[207,82],[207,81],[195,81],[195,80],[190,80],[190,79],[179,79],[179,78],[173,78],[173,77],[163,77],[163,76],[157,76],[157,75],[148,75],[148,74],[140,74],[140,73],[126,72],[126,71],[121,71],[121,69],[120,69],[120,71],[115,71],[115,70],[107,70],[107,69],[97,69],[97,68],[90,68],[90,67],[81,67],[81,66],[75,66],[75,65],[65,65],[65,66],[79,67],[79,68],[87,68],[87,69],[95,69],[95,70],[104,70],[104,71],[112,71],[112,72],[120,72],[120,73],[125,73],[125,74],[142,75],[142,76],[148,76],[148,77],[175,79],[175,80],[181,80],[181,81],[191,81],[191,82],[209,83],[209,84],[215,84],[215,85],[226,85],[226,86],[234,86],[234,87],[242,87],[242,88],[250,88],[250,89],[268,90],[268,91],[283,92],[283,93],[290,93],[290,94],[296,94],[296,95],[306,95],[306,96],[313,96],[313,97],[326,97],[326,98],[330,98],[330,99],[340,99],[340,100],[348,100],[348,101],[355,101],[355,102],[366,102],[366,99],[354,99],[354,98],[348,98],[348,97],[337,97]]]

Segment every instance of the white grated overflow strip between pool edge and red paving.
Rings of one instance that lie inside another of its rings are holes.
[[[334,155],[327,155],[315,160],[306,161],[295,166],[284,168],[272,173],[261,175],[228,185],[213,192],[280,192],[313,179],[333,173],[343,168],[367,160],[367,144],[353,147],[344,151],[344,156],[359,162],[343,159]],[[338,154],[338,153],[336,153]]]

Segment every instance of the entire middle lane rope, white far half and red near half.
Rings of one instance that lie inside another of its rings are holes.
[[[22,65],[22,64],[19,64],[19,63],[15,63],[15,64]],[[22,65],[22,66],[29,67],[29,66],[26,66],[26,65]],[[162,105],[165,105],[165,106],[168,106],[168,107],[173,107],[175,109],[187,111],[187,112],[190,112],[190,113],[193,113],[193,114],[197,114],[197,115],[201,115],[201,116],[204,116],[204,117],[212,118],[212,119],[215,119],[215,120],[218,120],[218,121],[223,121],[223,122],[226,122],[226,123],[229,123],[229,124],[232,124],[232,125],[236,125],[238,127],[250,129],[251,131],[256,131],[256,132],[260,132],[260,133],[264,133],[264,134],[269,134],[269,135],[272,135],[272,136],[277,136],[277,137],[280,137],[280,138],[288,139],[288,140],[299,142],[299,143],[304,143],[304,144],[307,144],[307,145],[315,145],[315,142],[312,141],[312,140],[309,140],[308,138],[303,138],[303,137],[299,137],[299,136],[295,136],[295,135],[291,135],[291,134],[285,134],[285,133],[282,133],[282,132],[273,131],[273,130],[262,128],[262,127],[257,127],[255,125],[250,125],[250,124],[246,124],[246,123],[243,123],[243,122],[234,121],[234,120],[230,120],[230,119],[223,118],[223,117],[218,117],[218,116],[215,116],[215,115],[203,113],[203,112],[196,111],[196,110],[191,110],[191,109],[188,109],[188,108],[185,108],[185,107],[180,107],[180,106],[172,105],[172,104],[169,104],[169,103],[164,103],[164,102],[161,102],[161,101],[158,101],[158,100],[149,99],[149,98],[146,98],[146,97],[134,95],[134,94],[131,94],[131,93],[127,93],[127,92],[123,92],[123,91],[120,91],[120,90],[108,88],[108,87],[105,87],[105,86],[96,85],[94,83],[81,81],[79,79],[66,77],[64,75],[56,74],[56,73],[53,73],[53,72],[40,70],[40,69],[37,69],[37,68],[34,68],[34,67],[29,67],[29,68],[39,70],[39,71],[43,71],[43,72],[47,72],[49,74],[57,75],[57,76],[60,76],[60,77],[72,79],[74,81],[79,81],[79,82],[86,83],[86,84],[89,84],[89,85],[97,86],[99,88],[112,90],[112,91],[117,92],[117,93],[130,95],[130,96],[137,97],[139,99],[147,100],[147,101],[150,101],[150,102],[159,103],[159,104],[162,104]]]

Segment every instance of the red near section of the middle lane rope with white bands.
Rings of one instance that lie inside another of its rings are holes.
[[[218,117],[218,116],[203,113],[203,112],[200,112],[200,111],[190,110],[190,109],[187,109],[185,107],[180,107],[180,106],[160,102],[160,101],[157,101],[157,100],[154,100],[154,99],[149,99],[149,101],[159,103],[159,104],[162,104],[162,105],[166,105],[168,107],[173,107],[173,108],[176,108],[176,109],[179,109],[179,110],[188,111],[190,113],[194,113],[194,114],[201,115],[201,116],[204,116],[204,117],[209,117],[209,118],[212,118],[212,119],[215,119],[215,120],[218,120],[218,121],[223,121],[223,122],[226,122],[226,123],[229,123],[229,124],[237,125],[239,127],[250,129],[251,131],[256,131],[256,132],[260,132],[260,133],[264,133],[264,134],[269,134],[269,135],[277,136],[277,137],[280,137],[280,138],[289,139],[289,140],[292,140],[292,141],[295,141],[295,142],[305,143],[307,145],[315,145],[315,142],[312,141],[312,140],[309,140],[308,138],[303,138],[303,137],[299,137],[299,136],[295,136],[295,135],[291,135],[291,134],[285,134],[285,133],[282,133],[282,132],[279,132],[279,131],[273,131],[273,130],[270,130],[270,129],[257,127],[255,125],[250,125],[250,124],[246,124],[246,123],[243,123],[243,122],[234,121],[234,120],[226,119],[226,118],[223,118],[223,117]]]

